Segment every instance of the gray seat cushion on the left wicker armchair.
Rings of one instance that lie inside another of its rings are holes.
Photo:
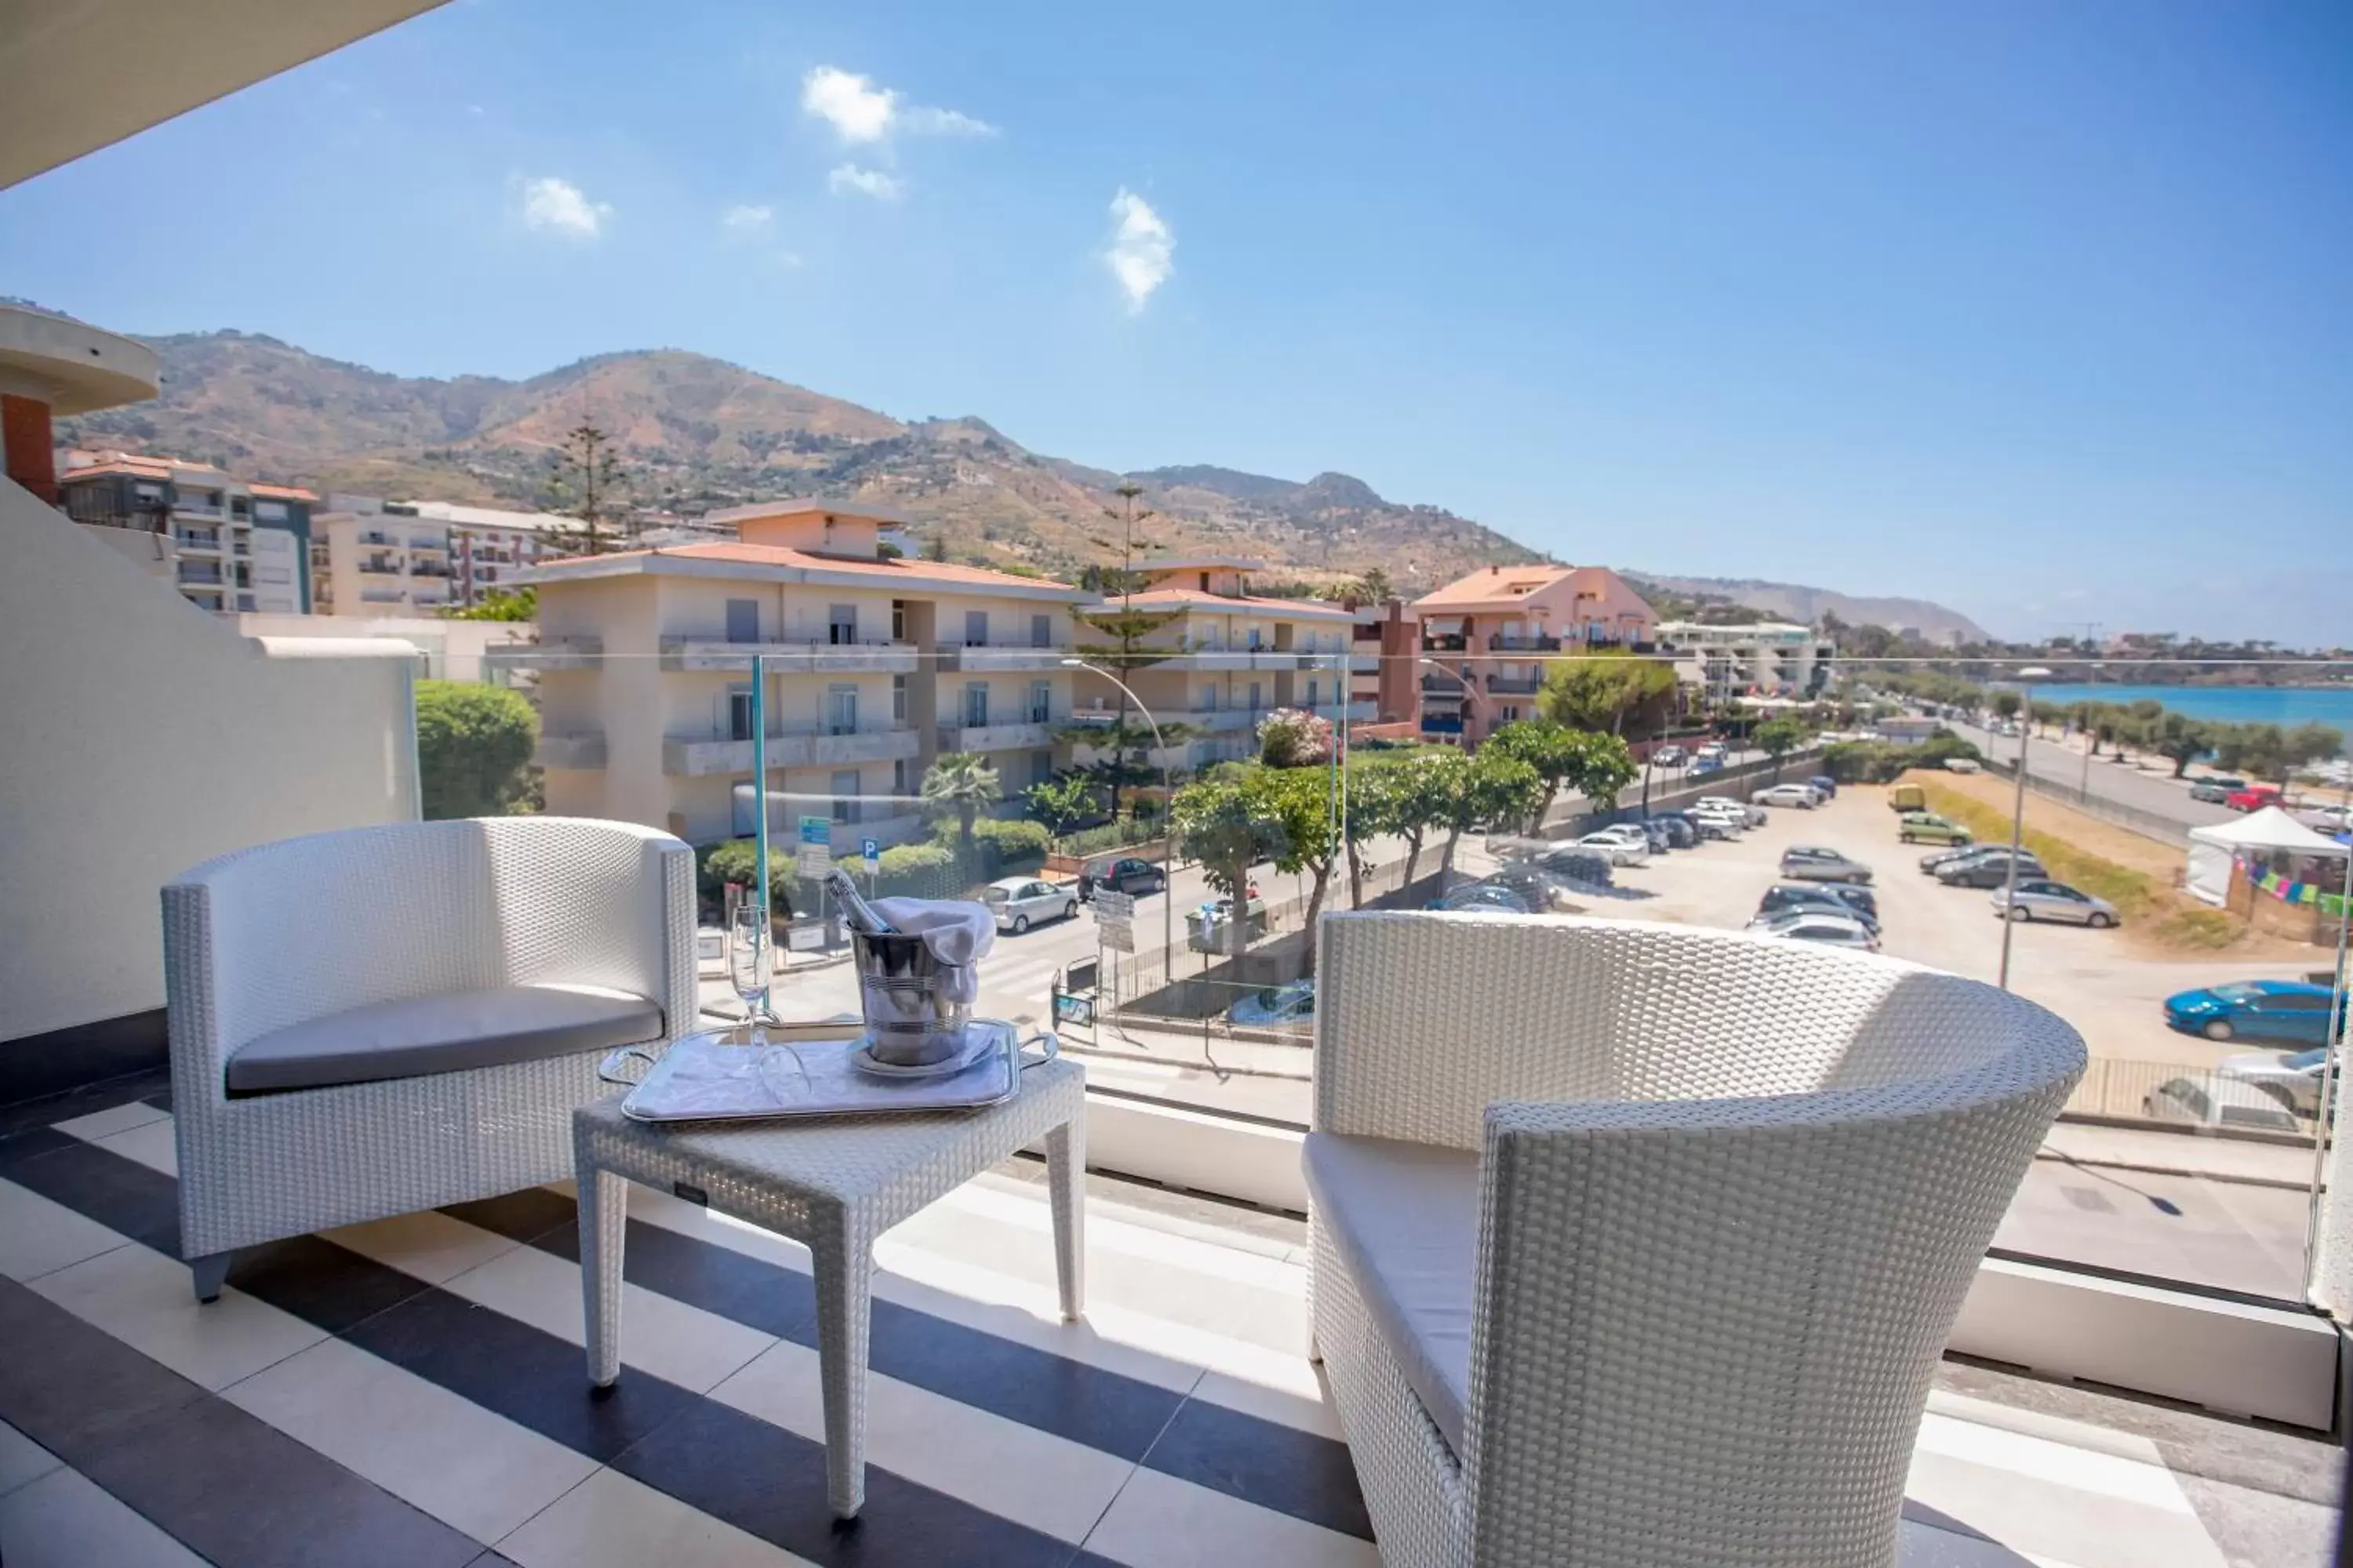
[[[238,1046],[228,1093],[504,1067],[661,1037],[661,1009],[602,985],[504,985],[376,1001]]]

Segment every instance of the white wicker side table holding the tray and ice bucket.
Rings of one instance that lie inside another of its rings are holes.
[[[805,1244],[816,1276],[826,1495],[838,1519],[856,1516],[866,1502],[875,1237],[1042,1140],[1061,1314],[1075,1321],[1085,1309],[1085,1070],[1056,1058],[1028,1067],[1012,1100],[967,1112],[736,1126],[649,1126],[624,1117],[619,1098],[572,1112],[588,1380],[607,1387],[621,1375],[624,1182],[675,1192]]]

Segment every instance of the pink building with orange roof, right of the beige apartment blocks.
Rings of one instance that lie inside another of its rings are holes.
[[[1579,649],[1652,649],[1659,618],[1607,567],[1482,567],[1414,602],[1421,618],[1421,733],[1478,745],[1529,719],[1551,661]]]

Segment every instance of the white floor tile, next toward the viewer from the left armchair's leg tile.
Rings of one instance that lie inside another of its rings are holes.
[[[598,1467],[341,1340],[221,1396],[475,1540],[499,1540]]]

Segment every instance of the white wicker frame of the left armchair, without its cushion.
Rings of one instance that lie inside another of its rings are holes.
[[[631,823],[515,816],[285,839],[165,886],[162,924],[179,1232],[200,1300],[219,1295],[240,1246],[567,1178],[572,1110],[607,1093],[595,1065],[609,1046],[551,1056],[541,1034],[520,1060],[407,1060],[381,1077],[329,1063],[322,1077],[365,1081],[245,1093],[240,1053],[252,1063],[287,1039],[384,1048],[388,1016],[442,999],[459,999],[459,1018],[499,1018],[515,999],[633,1009],[602,1020],[607,1037],[696,1018],[694,851]],[[285,1079],[301,1063],[264,1067]]]

